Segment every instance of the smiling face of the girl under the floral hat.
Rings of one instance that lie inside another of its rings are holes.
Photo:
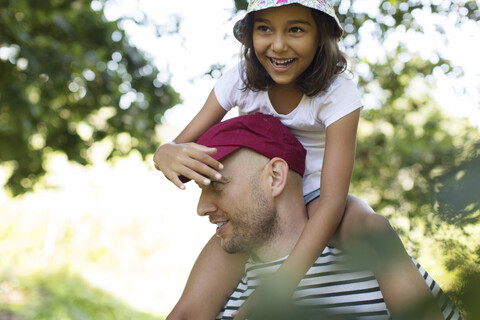
[[[293,4],[254,13],[255,55],[276,84],[293,85],[318,48],[311,9]]]

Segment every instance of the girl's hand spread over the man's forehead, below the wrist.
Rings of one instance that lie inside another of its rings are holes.
[[[217,152],[215,148],[205,147],[193,142],[167,143],[160,146],[153,156],[155,168],[163,172],[165,177],[178,188],[185,189],[180,180],[184,176],[201,185],[208,185],[212,180],[220,180],[217,170],[223,165],[210,157]]]

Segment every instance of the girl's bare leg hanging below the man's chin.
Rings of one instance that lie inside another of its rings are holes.
[[[213,236],[195,261],[182,296],[167,320],[212,320],[235,290],[247,255],[226,253]]]

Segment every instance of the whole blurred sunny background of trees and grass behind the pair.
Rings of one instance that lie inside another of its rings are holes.
[[[480,319],[480,1],[335,3],[365,104],[351,193]],[[245,8],[0,0],[0,319],[168,314],[215,227],[152,155],[238,62]]]

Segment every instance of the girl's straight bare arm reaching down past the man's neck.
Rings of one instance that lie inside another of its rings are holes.
[[[353,172],[359,118],[357,109],[327,127],[320,197],[309,205],[308,223],[278,271],[295,287],[321,255],[342,220]]]

